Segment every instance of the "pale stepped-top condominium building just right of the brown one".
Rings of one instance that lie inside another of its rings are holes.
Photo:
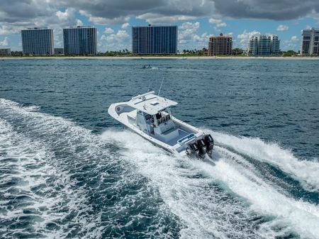
[[[248,53],[249,55],[279,55],[280,40],[278,35],[252,36]]]

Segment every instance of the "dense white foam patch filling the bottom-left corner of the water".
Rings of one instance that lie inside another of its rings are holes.
[[[86,211],[82,189],[57,165],[47,163],[53,157],[43,144],[0,121],[0,190],[4,195],[0,201],[0,231],[4,238],[64,238],[73,227],[61,221],[72,211]],[[86,223],[91,221],[88,219],[77,218]]]

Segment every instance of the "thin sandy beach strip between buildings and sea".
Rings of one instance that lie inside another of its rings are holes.
[[[0,60],[40,60],[40,59],[100,59],[100,60],[319,60],[319,57],[215,57],[215,56],[132,56],[132,57],[107,57],[107,56],[76,56],[76,57],[67,57],[67,56],[52,56],[52,57],[0,57]]]

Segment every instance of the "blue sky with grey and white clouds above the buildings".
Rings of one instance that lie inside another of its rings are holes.
[[[299,50],[301,30],[319,28],[319,0],[0,0],[0,48],[21,50],[21,29],[98,28],[99,51],[130,50],[131,26],[179,26],[179,50],[207,47],[210,35],[233,35],[247,48],[255,34],[279,35],[282,50]]]

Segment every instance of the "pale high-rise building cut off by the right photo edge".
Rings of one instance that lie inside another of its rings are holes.
[[[301,55],[319,55],[319,28],[302,31],[300,52]]]

